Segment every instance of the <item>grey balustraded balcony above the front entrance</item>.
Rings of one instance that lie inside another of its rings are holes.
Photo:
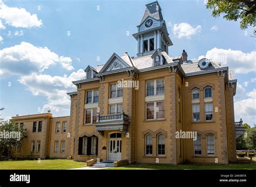
[[[103,116],[97,114],[97,121],[93,123],[96,127],[96,131],[99,132],[100,135],[103,135],[104,131],[109,130],[120,130],[127,133],[129,124],[130,121],[128,121],[128,116],[123,111],[118,114]]]

